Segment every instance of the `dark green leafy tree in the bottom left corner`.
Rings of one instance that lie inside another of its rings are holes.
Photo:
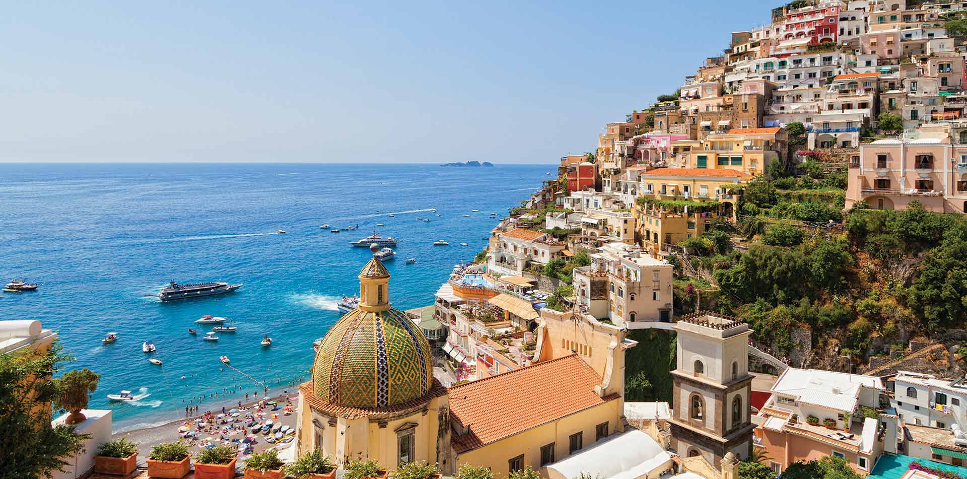
[[[52,380],[58,364],[71,361],[57,344],[44,355],[0,354],[0,470],[4,477],[41,479],[61,470],[83,450],[89,434],[50,425],[50,404],[61,398]]]

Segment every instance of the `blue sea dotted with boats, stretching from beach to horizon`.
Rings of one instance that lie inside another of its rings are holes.
[[[76,358],[68,369],[102,375],[91,406],[114,409],[115,431],[183,417],[199,397],[204,411],[261,396],[251,379],[222,368],[221,355],[291,392],[290,384],[308,379],[312,341],[339,317],[337,299],[358,292],[357,274],[371,254],[349,241],[374,230],[399,238],[396,259],[387,262],[391,300],[401,310],[430,305],[453,265],[485,247],[496,223],[487,213],[506,216],[553,169],[0,165],[0,280],[40,284],[32,293],[0,293],[0,319],[35,318],[56,330]],[[359,229],[332,233],[323,224]],[[438,239],[451,246],[432,246]],[[417,262],[405,264],[409,257]],[[149,296],[172,280],[244,285],[184,301]],[[201,341],[210,328],[193,321],[202,314],[227,317],[238,332]],[[102,345],[112,331],[118,341]],[[264,334],[274,339],[269,348],[259,344]],[[157,345],[152,356],[163,366],[148,363],[145,340]],[[123,389],[138,401],[104,397]]]

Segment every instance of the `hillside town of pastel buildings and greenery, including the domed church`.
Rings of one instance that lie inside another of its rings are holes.
[[[343,272],[273,477],[967,479],[967,2],[756,14],[431,305],[393,308],[376,255]],[[4,354],[56,338],[2,322]],[[86,452],[51,477],[172,477],[97,469],[109,411],[68,410]]]

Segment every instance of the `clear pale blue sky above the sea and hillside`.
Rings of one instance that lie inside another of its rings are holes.
[[[0,17],[0,162],[553,163],[777,4],[41,3]]]

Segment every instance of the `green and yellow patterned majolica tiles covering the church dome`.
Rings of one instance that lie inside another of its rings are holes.
[[[422,398],[432,374],[429,344],[406,314],[356,309],[323,338],[312,390],[331,404],[376,409]]]

